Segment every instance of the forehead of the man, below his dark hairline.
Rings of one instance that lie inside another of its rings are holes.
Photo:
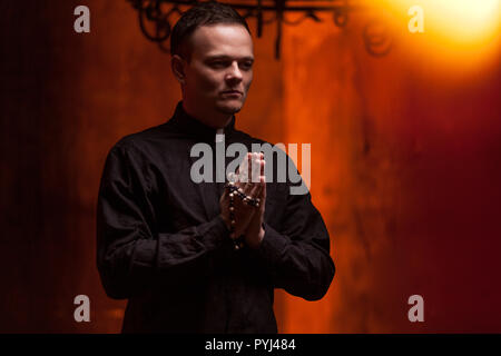
[[[197,28],[190,38],[191,57],[253,57],[253,39],[245,27],[217,23]]]

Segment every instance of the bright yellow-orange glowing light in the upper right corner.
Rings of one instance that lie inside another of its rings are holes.
[[[475,73],[480,68],[495,66],[500,53],[501,0],[380,0],[393,14],[395,33],[404,39],[407,51],[416,58],[440,65],[441,70]],[[412,20],[409,9],[420,7],[424,31],[410,36],[405,21]]]

